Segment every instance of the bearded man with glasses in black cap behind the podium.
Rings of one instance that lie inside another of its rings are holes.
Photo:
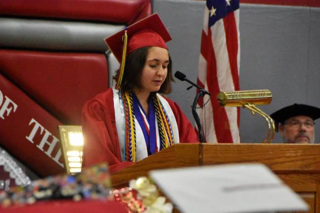
[[[320,108],[294,104],[279,109],[270,115],[279,125],[284,143],[314,143],[315,122],[320,117]]]

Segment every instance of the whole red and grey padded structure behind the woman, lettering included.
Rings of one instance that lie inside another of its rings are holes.
[[[0,146],[40,177],[63,172],[58,125],[80,125],[117,67],[103,38],[150,14],[150,0],[1,0]]]

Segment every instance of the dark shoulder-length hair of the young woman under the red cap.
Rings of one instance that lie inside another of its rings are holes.
[[[132,92],[135,86],[141,86],[141,76],[142,70],[146,64],[148,52],[151,46],[141,47],[139,49],[133,50],[129,53],[125,60],[125,67],[121,81],[121,89],[123,91]],[[119,70],[117,74],[113,77],[114,79],[118,79]],[[172,61],[169,55],[169,64],[167,67],[167,76],[160,87],[159,93],[169,94],[172,90],[171,88],[172,77]]]

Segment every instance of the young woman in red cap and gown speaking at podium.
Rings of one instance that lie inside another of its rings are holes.
[[[113,173],[175,143],[198,142],[180,107],[160,95],[173,80],[169,40],[158,14],[106,38],[121,66],[116,88],[83,107],[83,166],[106,161]]]

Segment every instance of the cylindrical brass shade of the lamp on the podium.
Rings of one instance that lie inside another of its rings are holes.
[[[272,93],[267,89],[220,92],[217,99],[220,106],[267,105],[272,101]]]

